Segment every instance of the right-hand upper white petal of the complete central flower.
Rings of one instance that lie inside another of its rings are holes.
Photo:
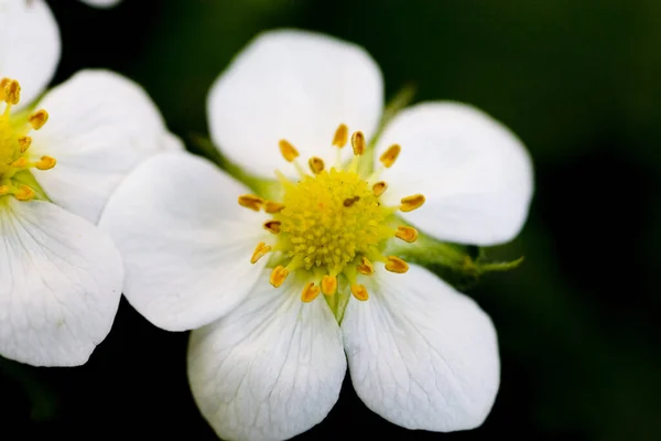
[[[402,152],[383,174],[388,201],[422,193],[425,204],[402,216],[442,240],[474,245],[517,236],[532,196],[532,164],[505,126],[456,103],[426,103],[402,111],[386,129],[378,154]]]

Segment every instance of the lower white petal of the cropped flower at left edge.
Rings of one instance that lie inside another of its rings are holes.
[[[47,202],[0,200],[0,355],[76,366],[110,332],[119,252],[100,229]]]

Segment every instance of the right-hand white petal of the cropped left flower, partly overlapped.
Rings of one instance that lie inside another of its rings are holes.
[[[33,138],[30,152],[57,160],[35,171],[57,205],[97,223],[119,182],[170,140],[159,109],[136,83],[107,71],[82,71],[51,90],[40,107],[48,122]]]

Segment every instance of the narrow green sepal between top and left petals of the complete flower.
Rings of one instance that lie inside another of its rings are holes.
[[[214,162],[220,169],[225,170],[234,179],[241,181],[249,186],[256,194],[268,200],[279,200],[282,192],[282,186],[277,180],[258,178],[246,172],[238,164],[230,161],[227,157],[220,153],[220,150],[208,139],[202,135],[189,135],[191,152],[199,154],[209,161]]]

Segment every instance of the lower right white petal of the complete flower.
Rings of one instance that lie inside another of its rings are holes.
[[[422,267],[383,272],[367,301],[349,300],[342,323],[356,392],[408,429],[480,426],[500,381],[490,319]]]

